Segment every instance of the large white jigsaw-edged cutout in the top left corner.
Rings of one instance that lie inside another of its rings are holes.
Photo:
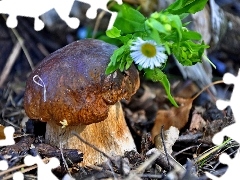
[[[55,9],[62,20],[71,28],[79,26],[77,18],[69,17],[74,0],[2,0],[0,13],[8,14],[7,26],[15,28],[18,24],[17,16],[34,18],[34,29],[39,31],[44,28],[41,15]]]

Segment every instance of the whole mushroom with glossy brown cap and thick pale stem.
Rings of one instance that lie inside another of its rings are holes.
[[[100,40],[75,41],[47,56],[26,82],[28,117],[47,122],[49,144],[81,150],[82,165],[100,164],[106,158],[72,131],[108,155],[136,150],[119,101],[130,100],[137,91],[139,75],[134,65],[105,74],[116,48]]]

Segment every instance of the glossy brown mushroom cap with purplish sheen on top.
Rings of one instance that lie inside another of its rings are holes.
[[[73,42],[47,56],[26,82],[24,108],[31,119],[91,124],[107,118],[109,105],[130,99],[139,87],[137,69],[106,75],[116,46],[100,40]]]

